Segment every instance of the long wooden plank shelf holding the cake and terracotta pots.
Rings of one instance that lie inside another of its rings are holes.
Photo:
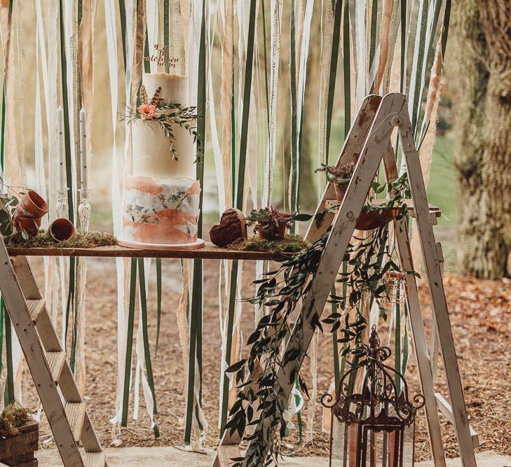
[[[101,258],[197,258],[204,260],[278,260],[292,253],[236,251],[219,248],[211,242],[196,250],[146,250],[126,246],[95,246],[94,248],[8,248],[10,256],[96,256]]]

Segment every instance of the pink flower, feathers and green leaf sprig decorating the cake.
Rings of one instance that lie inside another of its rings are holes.
[[[173,144],[175,141],[174,125],[179,125],[186,129],[193,136],[193,142],[195,143],[198,138],[197,120],[200,116],[196,113],[195,106],[183,107],[181,104],[163,102],[160,95],[161,86],[158,86],[153,97],[149,100],[146,88],[144,85],[141,85],[139,92],[140,104],[138,106],[131,106],[126,118],[130,121],[140,119],[158,122],[172,143],[170,146],[172,160],[177,160],[179,155]]]

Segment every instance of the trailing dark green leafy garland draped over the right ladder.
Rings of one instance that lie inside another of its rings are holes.
[[[373,183],[375,193],[382,193],[386,188],[391,199],[386,204],[375,206],[374,197],[369,197],[366,210],[390,209],[400,207],[397,220],[407,215],[409,187],[406,174],[387,184]],[[320,223],[329,208],[315,216],[315,222]],[[300,339],[289,341],[288,347],[282,353],[282,342],[291,333],[289,318],[299,309],[306,295],[312,291],[312,279],[318,270],[322,253],[332,227],[320,239],[291,258],[282,258],[277,270],[266,272],[263,279],[254,281],[259,289],[254,297],[245,300],[254,305],[269,309],[263,316],[254,332],[247,340],[250,354],[229,368],[226,372],[236,373],[238,388],[237,400],[229,411],[229,421],[224,426],[230,435],[238,432],[243,440],[250,442],[245,457],[231,459],[234,467],[240,467],[243,462],[247,466],[268,466],[277,462],[281,454],[280,440],[287,433],[284,413],[288,405],[282,387],[278,383],[278,372],[289,363],[296,362],[289,372],[289,381],[298,381],[299,388],[307,397],[308,389],[304,377],[299,372],[299,358],[306,356],[306,350],[301,347]],[[353,237],[347,253],[350,254],[350,271],[339,274],[340,283],[346,283],[349,293],[346,296],[331,294],[329,302],[337,305],[340,312],[329,314],[320,319],[322,310],[315,308],[311,300],[309,309],[301,309],[294,326],[304,325],[304,317],[311,318],[313,330],[319,328],[323,332],[322,323],[331,326],[330,332],[339,330],[343,344],[342,355],[348,363],[357,367],[365,365],[364,356],[367,345],[363,342],[367,320],[362,315],[361,300],[367,296],[378,305],[381,316],[386,319],[384,302],[388,298],[388,288],[384,283],[385,274],[389,271],[400,271],[400,265],[393,259],[394,251],[388,246],[388,229],[386,225],[372,230],[365,239]],[[408,272],[416,274],[413,271]],[[355,310],[355,314],[350,313]],[[311,316],[312,313],[312,316]],[[351,318],[351,316],[353,318]],[[298,333],[299,334],[299,333]],[[350,358],[350,360],[348,360]],[[247,377],[247,375],[251,375]],[[252,403],[259,403],[252,407]],[[274,437],[273,430],[280,425],[280,436]],[[245,428],[253,428],[252,433],[245,434]]]

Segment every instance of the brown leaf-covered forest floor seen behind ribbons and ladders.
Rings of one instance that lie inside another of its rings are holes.
[[[163,316],[157,358],[153,358],[154,380],[158,415],[156,421],[161,433],[154,439],[144,408],[142,389],[138,419],[132,419],[133,396],[130,396],[128,427],[120,433],[112,430],[109,419],[115,412],[117,372],[117,310],[115,263],[111,259],[88,260],[88,288],[86,297],[86,393],[85,398],[97,433],[105,446],[179,446],[183,445],[184,385],[182,349],[176,326],[175,309],[181,291],[179,261],[163,260]],[[38,268],[36,268],[38,269]],[[250,277],[254,277],[253,263],[243,263],[245,286],[243,297],[252,293]],[[205,310],[203,320],[203,405],[209,424],[204,445],[217,443],[220,347],[218,313],[219,262],[205,263]],[[154,270],[149,282],[149,339],[154,355],[156,342],[156,283]],[[477,281],[446,274],[445,287],[451,324],[456,342],[465,400],[470,423],[479,434],[480,450],[493,449],[499,454],[511,454],[511,421],[509,398],[511,392],[511,284],[510,281]],[[421,286],[425,327],[430,332],[430,298],[428,289]],[[246,340],[254,326],[254,312],[249,304],[243,305],[243,338]],[[136,329],[136,328],[135,328]],[[413,352],[411,352],[413,354]],[[309,366],[304,375],[311,380]],[[440,373],[440,372],[439,372]],[[418,391],[417,372],[412,356],[407,377],[411,392]],[[329,389],[332,381],[332,335],[325,332],[318,341],[318,398]],[[309,383],[309,387],[311,384]],[[36,409],[36,396],[29,375],[23,379],[25,405]],[[444,379],[439,378],[437,390],[447,394]],[[322,410],[319,403],[306,405],[304,414],[304,441],[297,456],[324,456],[328,452],[327,433],[322,432]],[[313,424],[309,422],[314,407]],[[447,456],[457,456],[454,428],[442,417],[443,438]],[[311,436],[312,433],[312,436]],[[41,440],[50,438],[44,415],[41,417]],[[293,431],[285,444],[289,449],[297,446],[297,431]],[[53,442],[43,447],[54,447]],[[428,435],[424,412],[418,416],[416,431],[416,458],[429,458]]]

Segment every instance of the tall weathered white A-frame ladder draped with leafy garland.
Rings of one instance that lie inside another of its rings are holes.
[[[416,235],[419,235],[421,239],[425,272],[428,278],[432,307],[435,312],[432,326],[435,326],[436,322],[436,330],[434,329],[432,332],[432,354],[430,358],[416,278],[413,274],[407,274],[407,305],[418,372],[421,379],[422,392],[425,397],[425,415],[428,422],[432,457],[435,461],[435,466],[443,467],[446,465],[438,417],[438,410],[440,410],[454,424],[463,466],[475,467],[474,447],[477,447],[478,440],[477,434],[468,424],[463,386],[461,384],[456,349],[454,347],[449,312],[442,283],[442,248],[440,243],[435,242],[432,230],[432,226],[436,224],[436,217],[434,213],[430,213],[428,206],[421,164],[418,160],[418,152],[416,151],[407,110],[407,100],[402,94],[389,94],[385,97],[371,95],[366,97],[362,103],[337,161],[339,166],[352,160],[357,160],[355,172],[346,195],[339,205],[339,209],[336,212],[329,212],[323,218],[320,226],[316,226],[314,221],[311,222],[306,235],[307,239],[313,241],[318,239],[332,225],[332,231],[327,240],[325,252],[320,260],[318,272],[312,281],[311,293],[304,300],[302,310],[310,309],[312,297],[314,298],[316,309],[323,309],[325,307],[337,272],[339,272],[339,267],[341,267],[345,251],[348,248],[350,238],[355,230],[357,218],[360,216],[381,160],[383,160],[387,180],[397,179],[397,167],[391,144],[391,136],[395,127],[397,127],[397,132],[400,135],[402,152],[407,162],[407,172],[414,208],[413,215],[416,218],[416,225],[418,227]],[[317,212],[325,209],[327,201],[334,199],[334,186],[332,183],[328,183],[322,195],[322,200],[318,204]],[[394,221],[394,233],[403,270],[414,270],[405,219]],[[312,315],[311,313],[310,316]],[[296,323],[298,324],[292,330],[288,346],[294,344],[296,347],[299,342],[301,347],[306,350],[311,344],[314,333],[311,319],[304,314],[302,319],[297,320]],[[444,368],[452,407],[442,395],[435,393],[433,386],[436,378],[436,359],[439,351],[442,352],[444,358]],[[289,375],[292,370],[300,368],[303,358],[302,354],[297,361],[290,362],[284,368],[280,368],[278,372],[280,388],[285,396],[290,395],[294,383],[289,379]],[[254,375],[250,376],[251,379],[253,377]],[[230,459],[240,456],[239,442],[240,437],[237,433],[229,435],[229,433],[224,432],[213,465],[215,467],[229,466],[232,463]],[[249,444],[248,449],[250,448]]]

